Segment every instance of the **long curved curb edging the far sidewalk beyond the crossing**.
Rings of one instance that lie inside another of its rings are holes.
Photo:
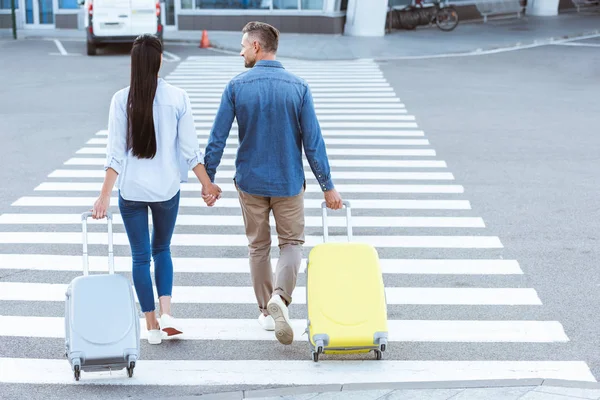
[[[516,42],[510,46],[491,46],[489,48],[477,48],[468,52],[454,52],[454,53],[445,53],[445,54],[424,54],[424,55],[416,55],[416,56],[388,56],[388,57],[367,57],[368,59],[372,59],[374,61],[395,61],[395,60],[425,60],[431,58],[451,58],[451,57],[470,57],[470,56],[480,56],[487,54],[496,54],[503,53],[508,51],[516,51],[516,50],[525,50],[534,47],[547,46],[553,43],[560,43],[565,40],[573,40],[577,38],[584,38],[587,36],[596,36],[600,35],[600,30],[592,30],[582,33],[575,34],[567,34],[567,35],[559,35],[559,36],[551,36],[547,39],[536,39],[527,42]],[[165,43],[168,43],[165,40]],[[223,52],[231,52],[237,54],[237,49],[231,49],[225,45],[221,45],[217,42],[211,42],[211,50],[215,51],[223,51]],[[279,57],[282,59],[292,59],[292,60],[307,60],[307,61],[353,61],[364,59],[365,57],[350,57],[350,58],[322,58],[322,57],[294,57],[288,56],[284,54],[279,54]]]

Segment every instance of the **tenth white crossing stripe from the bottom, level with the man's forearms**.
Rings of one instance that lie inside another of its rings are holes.
[[[65,161],[65,165],[104,165],[105,158],[71,158]],[[221,160],[221,166],[234,166],[235,160],[232,158],[225,158]],[[335,168],[349,168],[349,167],[364,167],[364,168],[446,168],[447,165],[444,161],[436,160],[369,160],[369,159],[358,159],[358,160],[329,160],[329,165],[332,169]],[[304,167],[309,167],[308,160],[304,159]],[[306,172],[312,173],[311,170],[305,168]],[[335,173],[335,172],[334,172]]]

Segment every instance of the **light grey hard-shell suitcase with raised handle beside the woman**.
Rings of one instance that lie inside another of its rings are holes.
[[[127,369],[133,376],[140,355],[140,319],[133,288],[127,278],[115,274],[112,214],[107,213],[108,274],[89,274],[87,219],[83,228],[83,276],[69,284],[65,301],[65,355],[75,380],[81,371]]]

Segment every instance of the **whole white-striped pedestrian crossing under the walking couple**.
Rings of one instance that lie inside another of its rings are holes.
[[[327,356],[314,363],[306,327],[306,256],[322,242],[323,195],[304,160],[306,246],[290,317],[295,342],[261,330],[249,276],[247,239],[231,178],[237,125],[216,183],[223,198],[206,207],[190,173],[182,184],[172,241],[173,311],[185,334],[145,342],[133,378],[82,373],[64,358],[65,289],[81,274],[81,219],[102,185],[107,131],[99,127],[63,165],[0,215],[0,384],[240,387],[490,379],[596,381],[566,349],[568,332],[544,318],[544,301],[518,260],[476,215],[464,188],[438,158],[417,119],[377,63],[284,60],[311,85],[332,178],[352,205],[354,240],[381,257],[389,316],[384,359]],[[205,146],[239,57],[189,57],[165,77],[192,102]],[[116,189],[113,192],[116,196]],[[116,197],[115,270],[131,277]],[[329,212],[330,240],[344,241],[343,211]],[[151,223],[151,219],[149,220]],[[271,218],[274,232],[274,220]],[[106,271],[106,221],[89,221],[90,271]],[[273,239],[273,265],[277,238]],[[101,301],[101,299],[99,300]],[[141,315],[140,315],[141,317]],[[41,345],[43,343],[43,345]]]

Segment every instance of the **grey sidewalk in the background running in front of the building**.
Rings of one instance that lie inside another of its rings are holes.
[[[240,31],[241,31],[240,27]],[[216,50],[239,53],[241,33],[209,31]],[[600,35],[600,13],[562,13],[556,17],[523,16],[521,19],[499,19],[465,22],[452,32],[436,27],[415,31],[396,31],[384,37],[349,37],[341,35],[308,35],[283,33],[278,55],[281,58],[307,60],[343,60],[372,58],[410,59],[480,54],[519,47],[536,46],[550,40]],[[166,31],[165,45],[198,46],[201,31]],[[19,39],[85,40],[82,30],[19,31]],[[0,30],[0,39],[12,39],[12,31]]]

